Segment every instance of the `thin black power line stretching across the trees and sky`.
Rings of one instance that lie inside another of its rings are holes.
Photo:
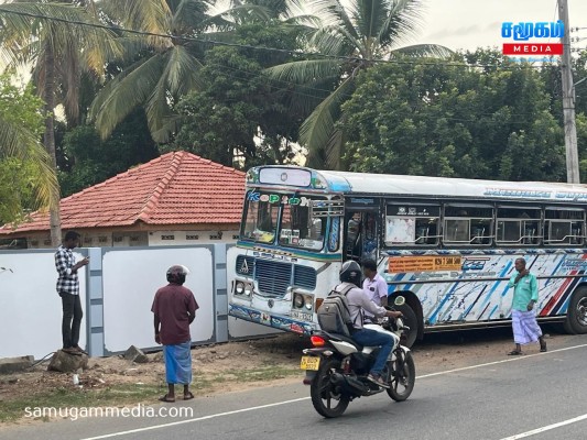
[[[187,41],[187,42],[196,42],[202,44],[209,44],[209,45],[218,45],[218,46],[228,46],[228,47],[237,47],[237,48],[247,48],[247,50],[253,50],[253,51],[267,51],[267,52],[274,52],[274,53],[282,53],[287,55],[298,55],[298,56],[308,56],[308,57],[320,57],[326,59],[337,59],[337,61],[345,61],[345,62],[365,62],[365,58],[360,57],[352,57],[352,56],[345,56],[345,55],[334,55],[334,54],[323,54],[319,52],[303,52],[303,51],[293,51],[293,50],[286,50],[286,48],[278,48],[278,47],[267,47],[267,46],[252,46],[248,44],[240,44],[240,43],[229,43],[229,42],[220,42],[215,40],[205,40],[205,38],[197,38],[195,36],[187,36],[187,35],[174,35],[174,34],[160,34],[155,32],[148,32],[148,31],[137,31],[132,29],[127,28],[120,28],[120,26],[112,26],[107,24],[99,24],[99,23],[88,23],[84,21],[77,21],[77,20],[68,20],[68,19],[61,19],[57,16],[48,16],[48,15],[42,15],[42,14],[34,14],[30,12],[22,12],[22,11],[8,11],[3,10],[0,6],[0,13],[8,13],[8,14],[14,14],[14,15],[21,15],[21,16],[29,16],[32,19],[43,19],[47,21],[56,21],[61,23],[66,24],[76,24],[80,26],[87,26],[87,28],[95,28],[95,29],[102,29],[107,31],[115,31],[115,32],[123,32],[123,33],[130,33],[134,35],[142,35],[142,36],[155,36],[160,38],[170,38],[175,41]],[[503,70],[513,69],[514,66],[507,66],[507,65],[498,65],[498,64],[465,64],[465,63],[458,63],[458,62],[422,62],[418,59],[368,59],[370,63],[376,64],[400,64],[400,65],[428,65],[428,66],[437,66],[439,64],[444,66],[453,66],[453,67],[465,67],[465,68],[472,68],[472,67],[480,67],[480,68],[499,68]],[[541,66],[536,66],[534,64],[529,63],[529,67],[532,68],[541,68]]]

